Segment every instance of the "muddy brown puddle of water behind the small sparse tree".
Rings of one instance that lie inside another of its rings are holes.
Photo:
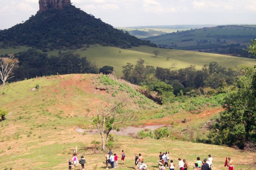
[[[165,126],[166,125],[152,125],[152,126],[138,126],[138,127],[128,126],[125,129],[123,129],[122,131],[117,132],[116,130],[112,130],[110,132],[110,134],[116,134],[116,135],[121,135],[121,136],[136,136],[139,131],[142,131],[145,129],[146,130],[151,129],[152,131],[154,131],[157,128],[165,127]],[[169,129],[171,129],[171,126],[169,126]],[[87,132],[90,134],[99,134],[99,131],[97,129],[76,128],[76,132],[79,132],[79,133]]]

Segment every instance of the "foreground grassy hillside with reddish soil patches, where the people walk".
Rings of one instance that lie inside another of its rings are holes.
[[[0,122],[0,169],[66,169],[66,160],[72,158],[76,146],[78,156],[85,155],[85,169],[92,170],[95,166],[97,170],[104,169],[104,155],[107,151],[97,150],[101,146],[97,144],[100,135],[75,131],[77,126],[93,128],[90,117],[95,113],[96,107],[100,108],[123,97],[127,98],[128,108],[133,109],[137,117],[145,116],[147,119],[169,110],[168,107],[144,99],[133,90],[136,86],[123,84],[120,88],[122,83],[109,81],[106,84],[106,81],[101,80],[101,75],[73,74],[34,78],[0,86],[0,108],[8,111],[6,120]],[[37,84],[40,88],[34,89]],[[97,86],[107,86],[110,92],[100,92],[95,89]],[[135,100],[142,100],[143,105],[135,103]],[[195,115],[180,110],[160,119],[128,124],[171,124],[173,133],[186,135],[181,131],[197,129],[219,111],[221,108],[206,108]],[[186,123],[181,122],[184,117],[187,118]],[[211,154],[216,170],[227,169],[224,168],[226,156],[233,158],[236,170],[247,170],[250,167],[248,161],[256,156],[255,153],[240,152],[230,147],[174,140],[171,137],[140,140],[114,135],[113,152],[120,157],[122,149],[126,153],[125,165],[120,164],[119,158],[119,169],[122,170],[133,169],[134,153],[142,153],[149,170],[158,169],[158,153],[166,150],[169,150],[175,164],[179,157],[185,158],[191,169],[197,156],[203,159]]]

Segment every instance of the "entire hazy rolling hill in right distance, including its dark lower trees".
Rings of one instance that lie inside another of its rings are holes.
[[[227,53],[230,47],[246,48],[251,39],[255,37],[255,26],[230,25],[190,29],[143,39],[150,40],[164,48]],[[230,54],[236,53],[236,51],[229,52]]]

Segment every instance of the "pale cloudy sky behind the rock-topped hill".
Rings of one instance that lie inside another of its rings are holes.
[[[39,0],[0,0],[0,30],[39,10]],[[256,0],[71,0],[113,27],[256,24]]]

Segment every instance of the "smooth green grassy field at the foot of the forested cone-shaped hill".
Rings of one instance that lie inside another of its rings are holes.
[[[27,47],[20,48],[24,51]],[[92,63],[96,63],[98,67],[110,65],[114,67],[117,77],[122,76],[122,66],[126,63],[136,65],[139,58],[145,60],[145,66],[150,65],[162,68],[181,69],[190,65],[195,65],[197,69],[203,68],[204,65],[209,65],[210,62],[217,62],[220,66],[231,68],[237,65],[250,65],[253,66],[255,60],[233,57],[220,54],[200,53],[197,51],[184,51],[184,50],[169,50],[163,48],[154,48],[148,46],[132,47],[129,49],[120,49],[117,47],[102,47],[101,45],[90,45],[90,48],[69,50],[83,57],[87,57]],[[15,49],[16,50],[16,49]],[[153,51],[159,51],[159,55],[154,57]],[[47,52],[48,55],[58,55],[59,50]],[[66,51],[62,51],[66,52]],[[0,54],[13,53],[12,49],[0,49]],[[169,60],[167,60],[169,57]],[[175,68],[172,67],[175,65]]]

